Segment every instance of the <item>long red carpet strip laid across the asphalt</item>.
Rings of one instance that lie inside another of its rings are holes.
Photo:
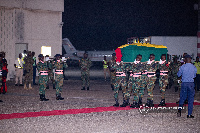
[[[194,105],[200,105],[199,102],[194,102]],[[176,103],[166,103],[166,107],[177,107]],[[158,107],[155,104],[154,107]],[[130,107],[96,107],[96,108],[82,108],[82,109],[68,109],[68,110],[53,110],[53,111],[40,111],[40,112],[25,112],[25,113],[12,113],[12,114],[0,114],[0,120],[25,118],[25,117],[39,117],[39,116],[52,116],[52,115],[66,115],[66,114],[80,114],[80,113],[92,113],[92,112],[105,112],[105,111],[117,111],[117,110],[132,110],[136,108]]]

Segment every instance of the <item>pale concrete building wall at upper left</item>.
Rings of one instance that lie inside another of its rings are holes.
[[[62,53],[62,11],[64,0],[0,0],[0,51],[6,52],[8,79],[19,54],[16,44],[27,44],[36,57],[42,46],[51,46],[51,57]]]

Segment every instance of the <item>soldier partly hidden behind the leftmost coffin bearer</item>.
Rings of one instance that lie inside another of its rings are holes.
[[[112,54],[112,59],[108,63],[108,67],[110,69],[110,84],[112,90],[114,90],[114,83],[115,83],[115,77],[116,77],[116,71],[113,68],[113,66],[116,64],[116,54]]]

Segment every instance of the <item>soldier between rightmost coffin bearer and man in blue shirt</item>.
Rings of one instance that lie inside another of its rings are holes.
[[[180,66],[181,66],[181,63],[178,62],[178,57],[174,56],[173,62],[170,63],[169,68],[170,68],[171,77],[174,83],[175,92],[177,92],[180,89],[180,86],[178,85],[179,83],[178,83],[178,76],[177,76]]]

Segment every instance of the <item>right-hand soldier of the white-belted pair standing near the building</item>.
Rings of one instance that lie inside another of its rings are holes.
[[[56,83],[56,100],[63,100],[61,97],[61,91],[63,86],[63,67],[67,68],[66,62],[62,62],[60,59],[60,54],[56,54],[56,60],[53,63],[53,68],[55,68],[55,83]]]

